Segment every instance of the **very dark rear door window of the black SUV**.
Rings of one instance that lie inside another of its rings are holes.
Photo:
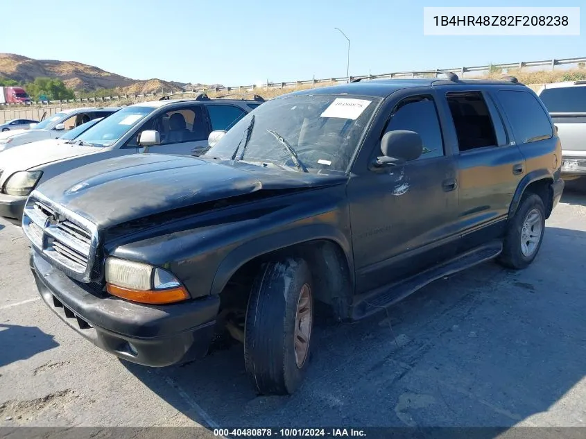
[[[447,93],[446,98],[454,120],[460,153],[484,146],[497,146],[494,124],[481,92]]]

